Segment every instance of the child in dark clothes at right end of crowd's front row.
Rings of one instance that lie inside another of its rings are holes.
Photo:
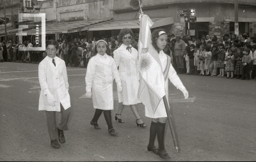
[[[242,58],[242,64],[243,64],[243,77],[241,80],[250,80],[250,63],[252,61],[252,57],[250,57],[250,49],[247,48],[244,50],[244,56]]]

